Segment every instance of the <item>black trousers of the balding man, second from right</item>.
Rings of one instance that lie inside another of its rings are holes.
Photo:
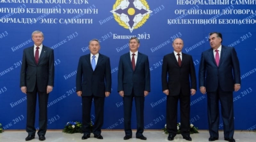
[[[166,128],[172,134],[177,134],[177,109],[180,100],[180,133],[182,136],[189,136],[190,119],[190,95],[180,94],[177,96],[167,96],[166,101]]]

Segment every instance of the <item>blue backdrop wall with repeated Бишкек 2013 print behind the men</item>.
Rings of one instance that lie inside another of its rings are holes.
[[[63,129],[68,121],[82,121],[76,70],[79,57],[90,53],[88,44],[93,38],[100,40],[100,53],[109,56],[111,62],[112,93],[105,99],[103,129],[124,128],[117,71],[119,57],[129,52],[131,36],[140,38],[139,51],[149,57],[151,92],[145,98],[145,129],[163,128],[163,56],[173,51],[173,39],[182,38],[183,52],[192,55],[198,76],[201,53],[210,48],[208,34],[213,31],[222,33],[223,45],[235,47],[240,61],[242,85],[234,93],[235,129],[256,128],[255,0],[1,0],[0,5],[0,123],[6,130],[26,126],[20,66],[23,49],[33,45],[31,33],[35,30],[44,33],[43,44],[55,54],[48,129]],[[199,129],[208,129],[206,97],[199,88],[191,96],[190,121]],[[91,118],[94,121],[94,113]],[[135,118],[133,107],[133,129]],[[219,127],[223,129],[222,120]]]

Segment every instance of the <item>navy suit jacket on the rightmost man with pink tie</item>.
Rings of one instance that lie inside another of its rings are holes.
[[[207,92],[214,92],[220,85],[221,90],[232,92],[234,84],[241,84],[236,50],[222,45],[219,67],[215,62],[213,49],[204,51],[199,66],[199,87],[205,86]]]

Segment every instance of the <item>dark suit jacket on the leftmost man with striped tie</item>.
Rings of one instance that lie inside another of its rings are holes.
[[[53,49],[43,45],[38,64],[34,56],[34,46],[24,49],[20,71],[20,87],[27,86],[32,92],[37,84],[38,91],[46,92],[47,85],[54,83]]]

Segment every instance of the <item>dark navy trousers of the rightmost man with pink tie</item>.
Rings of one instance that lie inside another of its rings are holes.
[[[218,87],[216,92],[207,92],[208,124],[211,137],[219,138],[219,100],[223,120],[224,138],[234,136],[233,92],[223,92]]]

